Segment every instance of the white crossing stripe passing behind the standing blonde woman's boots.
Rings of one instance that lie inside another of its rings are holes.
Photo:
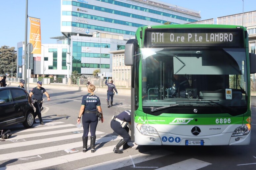
[[[120,139],[122,139],[122,137],[107,136],[107,137],[97,138],[95,144],[105,143],[105,142],[120,140]],[[88,143],[90,144],[90,140],[88,140]],[[65,149],[78,148],[78,147],[82,147],[82,146],[83,146],[83,142],[82,142],[82,138],[81,138],[80,142],[73,142],[73,143],[68,143],[68,144],[63,144],[63,145],[57,145],[57,146],[51,146],[51,147],[46,147],[46,148],[33,149],[33,150],[21,151],[21,152],[9,153],[9,154],[1,154],[0,161],[8,160],[8,159],[24,158],[24,156],[28,157],[28,156],[47,154],[47,153],[51,153],[51,152],[63,151]]]

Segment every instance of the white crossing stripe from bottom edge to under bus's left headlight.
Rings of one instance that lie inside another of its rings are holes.
[[[102,162],[102,163],[82,167],[82,168],[79,168],[77,170],[117,169],[117,168],[123,168],[123,167],[131,166],[131,165],[132,165],[133,168],[138,168],[138,167],[135,166],[136,163],[149,161],[149,160],[152,160],[152,159],[156,159],[156,158],[171,155],[171,154],[173,154],[173,153],[169,152],[169,151],[166,151],[166,150],[163,150],[163,149],[159,149],[159,150],[150,151],[150,152],[147,152],[147,153],[144,153],[144,154],[137,154],[137,155],[133,155],[133,156],[127,156],[127,157],[123,157],[123,158],[119,158],[119,159],[115,159],[115,160],[110,160],[110,161],[107,161],[107,162]],[[140,168],[153,168],[153,169],[155,169],[156,167],[140,167]]]

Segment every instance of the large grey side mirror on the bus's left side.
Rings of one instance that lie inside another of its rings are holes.
[[[124,64],[126,66],[133,66],[134,56],[135,56],[135,50],[138,46],[137,39],[130,39],[125,44],[125,50],[124,50]]]

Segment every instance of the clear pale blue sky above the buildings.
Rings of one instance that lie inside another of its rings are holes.
[[[87,0],[90,3],[90,0]],[[255,0],[158,0],[200,11],[201,20],[256,11]],[[0,0],[0,46],[25,40],[26,0]],[[61,0],[28,0],[28,16],[41,19],[41,43],[54,44],[61,34]],[[28,27],[29,27],[28,21]],[[27,32],[29,40],[29,28]]]

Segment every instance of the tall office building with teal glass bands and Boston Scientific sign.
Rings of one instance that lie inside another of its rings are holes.
[[[61,32],[70,41],[71,70],[112,72],[112,53],[124,49],[139,26],[200,20],[198,11],[155,0],[62,0]]]

